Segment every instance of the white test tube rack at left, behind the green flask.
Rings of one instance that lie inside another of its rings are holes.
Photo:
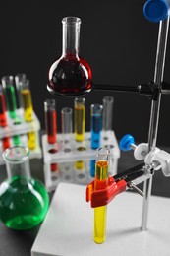
[[[33,112],[33,118],[31,122],[26,122],[23,117],[22,109],[17,109],[17,121],[12,119],[8,115],[8,111],[6,112],[7,116],[7,126],[0,127],[0,165],[4,164],[4,160],[2,157],[3,148],[2,148],[2,139],[6,137],[10,137],[10,145],[13,146],[13,136],[20,135],[21,144],[23,146],[27,146],[28,137],[27,134],[29,132],[35,132],[36,136],[36,148],[31,150],[29,149],[29,158],[30,159],[40,159],[42,158],[42,151],[39,142],[39,130],[40,130],[40,122]]]

